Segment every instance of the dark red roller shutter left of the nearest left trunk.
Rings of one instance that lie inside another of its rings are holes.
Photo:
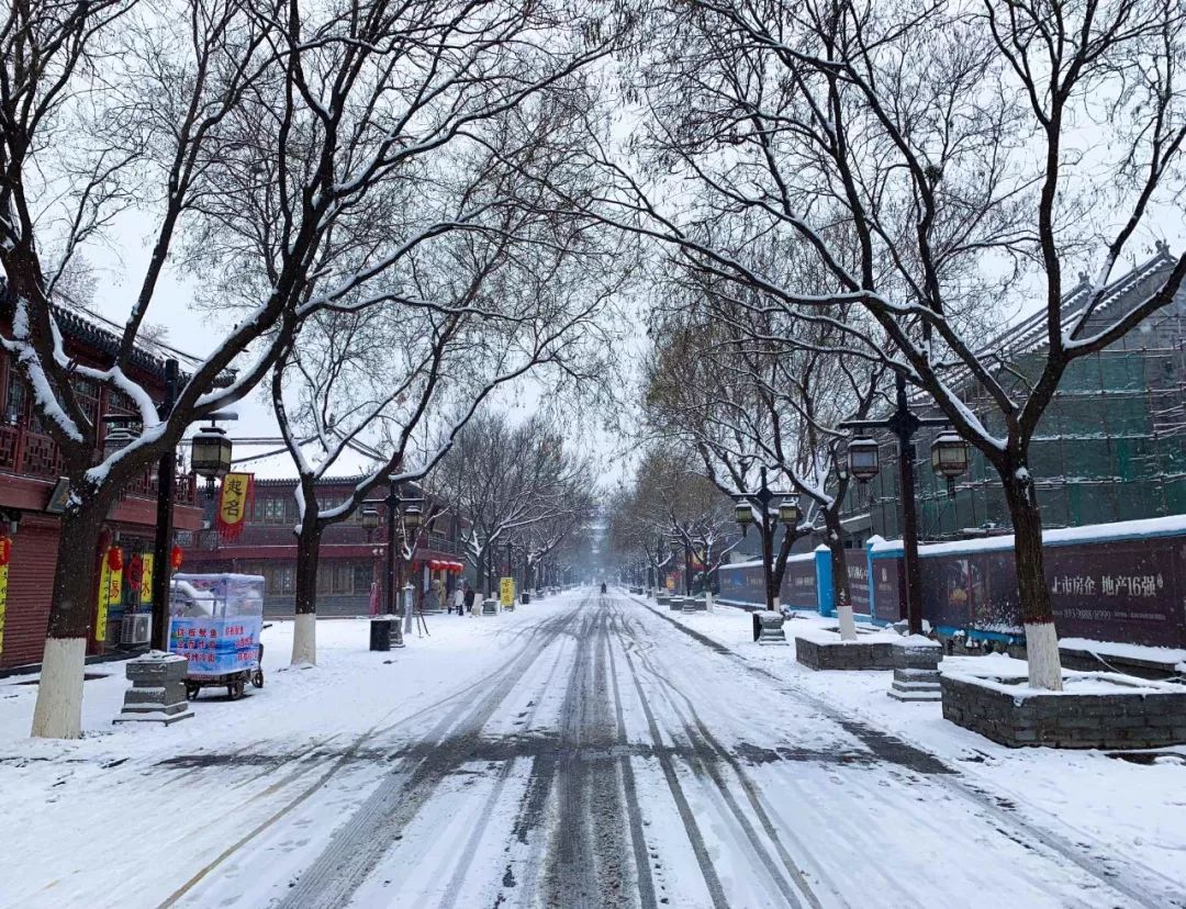
[[[25,520],[12,538],[8,563],[8,608],[0,666],[40,662],[45,623],[50,616],[53,566],[58,561],[58,529],[28,526]]]

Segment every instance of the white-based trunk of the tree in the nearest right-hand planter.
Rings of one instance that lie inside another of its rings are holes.
[[[1002,472],[1001,481],[1013,519],[1013,553],[1021,596],[1021,621],[1026,630],[1029,686],[1061,691],[1063,666],[1058,655],[1050,587],[1046,584],[1038,494],[1024,460],[1019,459],[1007,474]]]

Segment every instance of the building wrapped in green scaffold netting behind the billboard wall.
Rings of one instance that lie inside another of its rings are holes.
[[[1107,290],[1085,327],[1115,320],[1160,287],[1175,258],[1162,245]],[[1089,292],[1084,276],[1063,299],[1065,318],[1079,312]],[[1045,313],[1026,319],[986,345],[999,351],[1018,382],[1034,373],[1044,353]],[[987,395],[964,390],[989,430],[1000,417]],[[919,416],[942,416],[919,404]],[[971,450],[970,469],[949,494],[931,470],[930,444],[938,430],[914,436],[914,486],[919,536],[948,540],[1012,532],[1005,494],[995,469]],[[900,537],[898,446],[880,443],[880,473],[866,486],[853,485],[846,502],[849,545],[876,533]],[[1165,309],[1104,351],[1076,360],[1039,424],[1029,469],[1047,527],[1156,518],[1186,513],[1186,292]]]

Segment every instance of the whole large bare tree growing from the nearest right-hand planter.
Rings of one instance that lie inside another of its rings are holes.
[[[1182,188],[1181,6],[702,0],[644,27],[682,52],[644,55],[632,91],[652,119],[633,146],[650,169],[599,156],[604,217],[755,306],[841,328],[833,352],[935,401],[1001,478],[1029,680],[1060,687],[1029,443],[1069,365],[1186,275],[1178,260],[1136,305],[1109,305],[1117,263]],[[695,188],[665,193],[674,180]],[[770,271],[771,245],[809,254],[827,293]],[[1015,290],[1041,301],[1039,331],[1025,351],[986,348],[976,309]],[[875,333],[837,314],[854,306]],[[1016,367],[1021,352],[1035,365]]]

